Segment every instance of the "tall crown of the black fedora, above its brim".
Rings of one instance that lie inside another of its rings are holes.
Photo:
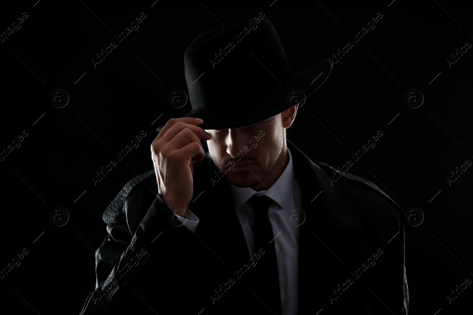
[[[280,39],[267,19],[248,19],[199,35],[184,53],[193,113],[251,109],[256,94],[293,73]]]

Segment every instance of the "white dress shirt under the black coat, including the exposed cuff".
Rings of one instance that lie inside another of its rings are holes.
[[[272,199],[268,209],[268,218],[271,222],[278,262],[281,311],[282,315],[296,315],[298,313],[299,226],[303,223],[305,214],[301,209],[300,187],[295,177],[289,149],[287,152],[288,165],[267,190],[256,192],[251,187],[241,188],[231,183],[229,186],[251,257],[254,257],[253,207],[249,199],[253,195],[265,195]],[[195,231],[199,224],[199,219],[189,209],[187,209],[187,219],[179,217],[179,221],[192,231]]]

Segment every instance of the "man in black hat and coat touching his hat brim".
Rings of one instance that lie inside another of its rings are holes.
[[[81,314],[407,314],[399,206],[286,139],[332,60],[292,73],[260,15],[201,34],[184,63],[193,110],[105,210]]]

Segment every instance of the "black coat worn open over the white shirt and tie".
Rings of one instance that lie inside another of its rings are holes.
[[[305,220],[299,314],[406,314],[402,209],[368,180],[334,174],[287,146],[301,188],[299,222]],[[228,181],[217,180],[209,153],[193,165],[192,200],[201,194],[189,205],[200,220],[195,233],[157,194],[154,170],[130,180],[108,206],[108,235],[96,251],[98,288],[81,314],[256,312],[253,268],[236,275],[250,256]]]

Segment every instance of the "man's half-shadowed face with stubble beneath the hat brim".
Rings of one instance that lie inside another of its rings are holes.
[[[244,128],[207,130],[210,156],[237,187],[253,187],[268,176],[286,141],[281,114]]]

